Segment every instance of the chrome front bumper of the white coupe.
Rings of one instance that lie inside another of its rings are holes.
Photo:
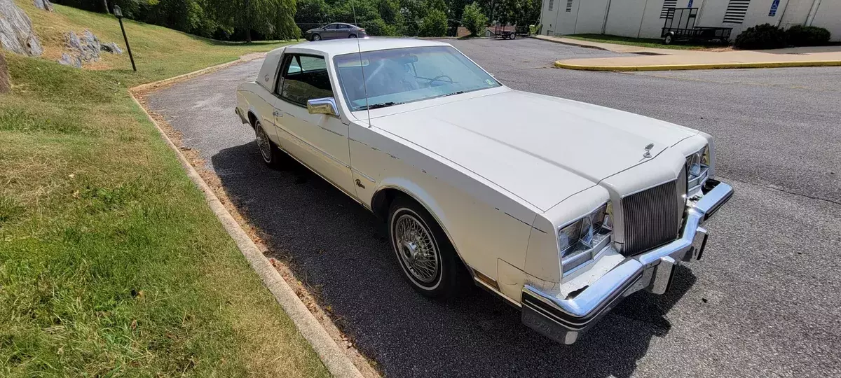
[[[711,188],[687,211],[680,239],[628,257],[598,281],[565,299],[524,286],[522,322],[549,339],[573,344],[622,298],[642,289],[654,294],[668,291],[675,265],[701,259],[707,237],[701,224],[733,196],[733,187],[723,182],[709,180],[706,185]]]

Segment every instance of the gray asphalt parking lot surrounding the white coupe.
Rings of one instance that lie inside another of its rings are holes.
[[[841,67],[566,71],[553,60],[616,54],[447,42],[509,87],[712,134],[717,176],[737,192],[708,223],[704,260],[680,267],[666,295],[634,294],[577,344],[555,344],[484,291],[458,302],[415,294],[371,213],[301,165],[262,165],[233,112],[235,86],[261,61],[150,93],[148,105],[385,375],[841,376]]]

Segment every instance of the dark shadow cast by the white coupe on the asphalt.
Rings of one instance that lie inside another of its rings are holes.
[[[271,170],[252,142],[221,150],[211,163],[231,200],[267,235],[267,255],[290,263],[385,375],[629,377],[652,337],[669,332],[666,313],[696,281],[679,267],[668,294],[638,292],[578,343],[557,344],[485,291],[449,302],[415,293],[383,224],[294,160]]]

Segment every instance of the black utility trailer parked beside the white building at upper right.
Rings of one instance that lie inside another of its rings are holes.
[[[663,30],[660,38],[665,45],[671,45],[677,41],[703,41],[714,40],[727,43],[733,28],[717,28],[711,26],[695,26],[698,18],[698,8],[666,8],[666,19],[663,23]]]

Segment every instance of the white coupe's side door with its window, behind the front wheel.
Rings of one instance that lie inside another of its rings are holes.
[[[283,149],[353,196],[347,125],[307,110],[307,100],[334,97],[324,56],[286,54],[281,72],[275,119]]]

